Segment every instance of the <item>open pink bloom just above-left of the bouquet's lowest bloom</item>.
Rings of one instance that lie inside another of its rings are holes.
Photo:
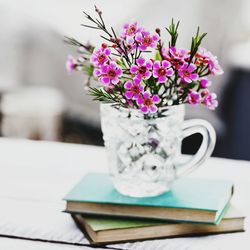
[[[137,100],[140,94],[144,91],[144,87],[141,85],[141,79],[135,78],[134,81],[127,81],[124,84],[126,89],[125,97],[127,99]]]

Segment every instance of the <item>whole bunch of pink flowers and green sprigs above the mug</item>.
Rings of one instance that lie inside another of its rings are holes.
[[[66,67],[69,72],[87,73],[86,85],[94,99],[138,109],[145,114],[158,112],[161,107],[188,103],[209,109],[217,107],[216,95],[208,90],[209,79],[210,75],[223,71],[217,57],[200,47],[205,33],[200,33],[199,28],[190,49],[177,48],[179,22],[172,20],[166,28],[170,40],[164,41],[163,29],[157,27],[154,32],[148,32],[132,21],[124,24],[121,32],[116,32],[105,25],[97,8],[96,13],[93,18],[85,13],[92,24],[83,26],[97,30],[101,27],[106,34],[101,36],[104,41],[101,46],[94,49],[92,45],[66,38],[67,43],[79,47],[80,53],[76,59],[69,57]],[[100,88],[92,87],[92,77],[101,83]]]

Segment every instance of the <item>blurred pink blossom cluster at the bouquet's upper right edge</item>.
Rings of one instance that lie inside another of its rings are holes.
[[[221,75],[224,73],[219,65],[217,57],[205,48],[200,47],[195,57],[197,58],[196,65],[199,66],[207,64],[212,75]]]

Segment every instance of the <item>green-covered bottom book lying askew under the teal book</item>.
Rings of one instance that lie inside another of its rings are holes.
[[[233,205],[229,206],[219,225],[90,217],[80,214],[73,214],[72,217],[78,227],[87,233],[92,244],[242,232],[245,219],[245,216]]]

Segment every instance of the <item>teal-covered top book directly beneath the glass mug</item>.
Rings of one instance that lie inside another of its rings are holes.
[[[218,224],[233,194],[228,180],[180,178],[155,197],[124,196],[107,174],[87,174],[65,197],[69,213]]]

